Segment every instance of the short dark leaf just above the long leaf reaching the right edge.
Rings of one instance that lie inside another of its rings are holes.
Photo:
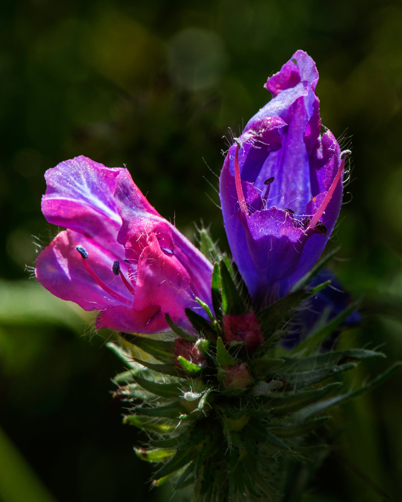
[[[313,391],[303,391],[296,393],[285,392],[284,396],[281,397],[271,397],[271,398],[260,398],[263,402],[267,403],[270,410],[270,414],[274,417],[281,417],[288,415],[294,411],[305,408],[306,406],[316,403],[320,399],[323,399],[327,394],[338,389],[342,384],[339,382],[334,382],[333,384],[326,385],[321,389],[314,389]]]

